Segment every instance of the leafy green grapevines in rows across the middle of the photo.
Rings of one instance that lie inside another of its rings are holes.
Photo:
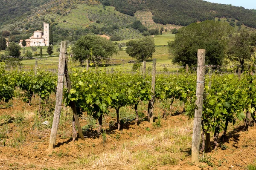
[[[24,101],[28,104],[33,95],[38,95],[47,102],[50,94],[56,91],[57,76],[51,72],[44,70],[38,70],[36,74],[33,70],[7,72],[4,65],[0,65],[0,75],[1,102],[12,99],[15,89],[20,89]],[[95,72],[72,69],[70,79],[73,89],[70,92],[64,90],[64,104],[69,105],[70,101],[74,101],[78,112],[87,112],[88,115],[98,119],[99,133],[102,128],[102,117],[108,114],[109,109],[116,110],[118,130],[122,128],[119,122],[121,107],[134,108],[137,124],[138,105],[148,104],[153,95],[151,75],[147,74],[144,79],[140,72],[115,71],[107,74],[100,70]],[[164,106],[164,116],[166,110],[170,108],[170,103],[172,105],[173,101],[183,101],[185,114],[193,118],[196,108],[195,74],[161,74],[157,75],[155,83],[154,98]],[[202,150],[210,150],[210,132],[214,133],[216,148],[219,133],[224,131],[222,135],[224,138],[229,123],[236,124],[237,121],[244,120],[248,129],[248,126],[255,122],[255,84],[254,76],[247,72],[244,72],[241,78],[234,74],[213,74],[210,78],[206,75],[202,130],[203,135],[206,134],[208,148],[205,148],[203,143]]]

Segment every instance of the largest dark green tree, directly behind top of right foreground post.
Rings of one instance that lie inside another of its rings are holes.
[[[207,20],[192,23],[179,29],[174,41],[169,41],[169,52],[174,54],[173,63],[185,66],[197,64],[198,49],[206,49],[206,65],[222,65],[225,44],[233,28],[228,23]]]

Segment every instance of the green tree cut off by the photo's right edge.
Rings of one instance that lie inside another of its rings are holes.
[[[256,48],[256,32],[241,29],[239,33],[230,37],[227,55],[230,61],[238,61],[244,69],[245,61],[250,61]]]

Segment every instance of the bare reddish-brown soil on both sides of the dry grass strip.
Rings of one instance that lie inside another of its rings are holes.
[[[0,109],[1,115],[13,115],[15,112],[35,112],[38,109],[37,101],[32,102],[32,106],[26,106],[22,101],[14,99],[12,107]],[[177,108],[176,108],[177,109]],[[157,108],[156,108],[157,110]],[[59,127],[59,130],[66,130],[64,135],[68,138],[63,138],[63,135],[57,136],[57,145],[55,150],[48,150],[50,129],[36,130],[33,129],[32,117],[27,117],[23,123],[23,133],[26,133],[26,140],[20,147],[0,146],[0,170],[42,170],[44,167],[64,167],[70,164],[79,156],[89,156],[91,154],[101,154],[111,152],[113,147],[118,148],[127,141],[135,140],[141,135],[157,134],[165,130],[167,127],[177,127],[186,124],[188,117],[185,115],[169,116],[166,120],[162,120],[160,128],[154,128],[147,121],[142,121],[139,125],[134,122],[126,125],[122,131],[111,130],[108,127],[108,122],[115,121],[115,118],[105,117],[103,129],[106,130],[107,140],[105,146],[102,144],[102,137],[96,133],[96,129],[85,135],[86,140],[81,139],[72,142],[72,127],[71,122],[67,121]],[[1,122],[0,122],[1,123]],[[84,119],[80,120],[81,126],[87,124]],[[9,123],[10,133],[6,143],[15,138],[15,132],[18,127],[15,123]],[[150,131],[147,131],[147,127]],[[0,125],[3,128],[3,124]],[[118,138],[120,136],[120,138]],[[242,131],[239,126],[230,127],[227,141],[219,141],[222,144],[221,150],[204,154],[207,157],[207,162],[200,163],[195,166],[189,163],[190,156],[184,161],[180,161],[177,165],[165,165],[153,167],[159,170],[244,170],[248,164],[254,164],[256,161],[256,128],[250,127],[249,132]],[[212,165],[213,167],[209,166]],[[74,168],[79,169],[79,168]],[[91,168],[88,168],[91,169]],[[121,169],[121,168],[120,168]]]

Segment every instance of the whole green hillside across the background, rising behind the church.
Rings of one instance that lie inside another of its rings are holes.
[[[214,18],[230,22],[236,29],[240,25],[256,28],[255,10],[203,0],[0,0],[0,4],[0,36],[14,42],[42,30],[44,22],[50,23],[55,44],[76,41],[88,33],[107,35],[111,40],[140,38],[144,31],[131,28],[135,20],[148,33],[163,27],[164,35],[173,28]]]

